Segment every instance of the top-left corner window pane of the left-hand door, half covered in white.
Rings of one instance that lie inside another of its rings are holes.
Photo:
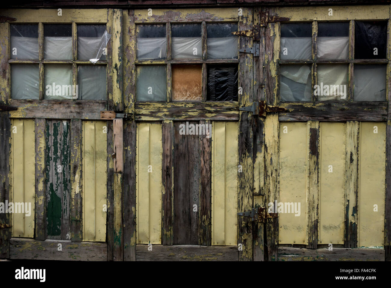
[[[11,59],[38,59],[37,24],[11,24]]]

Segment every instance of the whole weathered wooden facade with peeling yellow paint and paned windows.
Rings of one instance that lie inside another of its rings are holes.
[[[188,2],[0,9],[0,257],[391,260],[391,6]]]

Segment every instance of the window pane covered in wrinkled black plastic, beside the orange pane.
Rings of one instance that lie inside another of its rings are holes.
[[[238,65],[208,66],[209,101],[238,101]]]

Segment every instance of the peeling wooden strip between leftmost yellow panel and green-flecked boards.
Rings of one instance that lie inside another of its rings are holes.
[[[46,121],[35,119],[35,239],[46,239]],[[69,209],[68,209],[69,210]],[[69,219],[69,217],[68,217]]]

